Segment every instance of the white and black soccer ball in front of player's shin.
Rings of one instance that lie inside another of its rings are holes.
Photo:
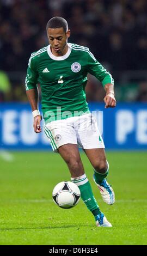
[[[62,181],[54,187],[52,196],[54,203],[59,207],[69,209],[79,202],[81,193],[78,186],[73,182]]]

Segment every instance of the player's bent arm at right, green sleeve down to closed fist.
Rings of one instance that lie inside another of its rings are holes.
[[[106,96],[104,97],[105,108],[115,107],[117,102],[114,95],[114,80],[112,75],[99,63],[93,54],[88,54],[88,72],[94,75],[103,85]]]

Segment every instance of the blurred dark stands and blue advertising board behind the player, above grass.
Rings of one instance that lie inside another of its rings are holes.
[[[114,77],[118,107],[103,112],[106,147],[147,149],[145,0],[1,0],[0,11],[1,148],[48,148],[33,133],[24,79],[30,53],[48,44],[47,21],[63,16],[69,41],[88,46]],[[105,92],[93,76],[86,90],[91,111],[103,111]]]

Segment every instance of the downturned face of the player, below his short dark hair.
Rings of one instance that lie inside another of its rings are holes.
[[[67,50],[67,41],[70,36],[70,30],[65,33],[63,27],[48,28],[47,36],[52,48],[52,53],[56,56],[64,55]]]

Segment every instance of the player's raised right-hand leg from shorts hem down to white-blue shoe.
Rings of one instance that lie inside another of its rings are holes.
[[[94,167],[94,181],[100,190],[102,199],[109,205],[114,204],[115,194],[111,185],[106,181],[109,164],[106,160],[105,149],[84,149],[89,161]]]

